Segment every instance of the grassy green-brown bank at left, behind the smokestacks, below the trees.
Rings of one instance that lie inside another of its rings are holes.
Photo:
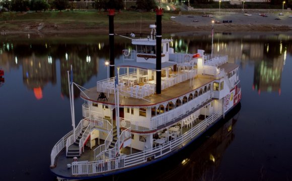
[[[2,13],[0,14],[0,30],[5,31],[36,31],[40,23],[46,30],[84,30],[92,29],[102,30],[108,27],[108,13],[98,11],[47,11],[47,12],[29,12],[29,13]],[[171,15],[165,13],[163,21],[170,21]],[[134,26],[140,27],[140,21],[143,23],[154,23],[155,13],[151,12],[117,12],[115,16],[115,27]],[[43,29],[44,30],[44,29]]]

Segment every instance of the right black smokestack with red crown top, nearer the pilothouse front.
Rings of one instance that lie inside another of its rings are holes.
[[[161,39],[162,39],[162,8],[156,9],[156,93],[161,94]]]

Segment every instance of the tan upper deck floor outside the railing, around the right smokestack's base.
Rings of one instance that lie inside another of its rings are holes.
[[[151,106],[151,105],[155,105],[161,102],[165,102],[171,99],[174,99],[176,97],[180,97],[188,92],[191,92],[195,89],[198,89],[210,82],[212,82],[213,80],[215,80],[215,78],[211,78],[211,77],[203,77],[203,76],[199,76],[194,78],[193,80],[190,81],[186,80],[184,82],[175,84],[174,86],[171,86],[167,89],[164,89],[161,91],[161,94],[153,94],[150,96],[145,96],[143,97],[143,99],[137,99],[137,98],[133,98],[133,97],[124,97],[124,96],[120,96],[119,100],[120,100],[120,106]],[[105,94],[108,98],[108,100],[97,100],[100,92],[97,92],[97,88],[93,87],[89,90],[84,91],[84,93],[81,94],[81,96],[84,99],[87,100],[91,100],[93,102],[100,102],[100,103],[104,103],[104,104],[115,104],[115,99],[114,99],[114,95],[113,94]],[[89,97],[89,98],[88,98]]]

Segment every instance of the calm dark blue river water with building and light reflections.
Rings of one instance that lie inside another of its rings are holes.
[[[205,49],[208,34],[165,35],[176,52]],[[240,65],[238,107],[201,139],[155,165],[105,180],[292,180],[292,36],[215,34],[214,54]],[[128,39],[115,38],[116,61]],[[71,130],[66,71],[96,86],[107,78],[108,36],[0,37],[0,180],[54,180],[50,152]],[[76,120],[83,100],[75,95]]]

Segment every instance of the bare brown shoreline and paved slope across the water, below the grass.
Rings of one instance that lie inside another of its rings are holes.
[[[197,12],[196,12],[197,13]],[[162,22],[162,32],[167,33],[183,33],[183,32],[209,32],[211,30],[212,21],[220,22],[214,24],[214,33],[223,32],[285,32],[292,31],[292,18],[288,17],[288,13],[284,16],[278,16],[277,13],[269,13],[268,17],[259,16],[252,13],[252,16],[244,16],[243,12],[229,12],[214,14],[213,17],[202,17],[200,15],[174,15],[174,19],[170,19],[171,14],[166,14]],[[118,17],[117,15],[116,17]],[[280,17],[281,20],[275,20]],[[118,18],[116,18],[118,19]],[[232,20],[232,23],[223,23],[224,20]],[[149,25],[154,24],[155,18],[139,20],[134,22],[124,22],[115,20],[115,33],[149,33]],[[98,21],[96,21],[98,22]],[[107,34],[107,24],[96,24],[87,26],[80,22],[54,23],[48,20],[35,21],[8,21],[2,28],[0,33],[3,34]],[[18,26],[18,28],[15,28]],[[129,27],[131,28],[129,30]]]

